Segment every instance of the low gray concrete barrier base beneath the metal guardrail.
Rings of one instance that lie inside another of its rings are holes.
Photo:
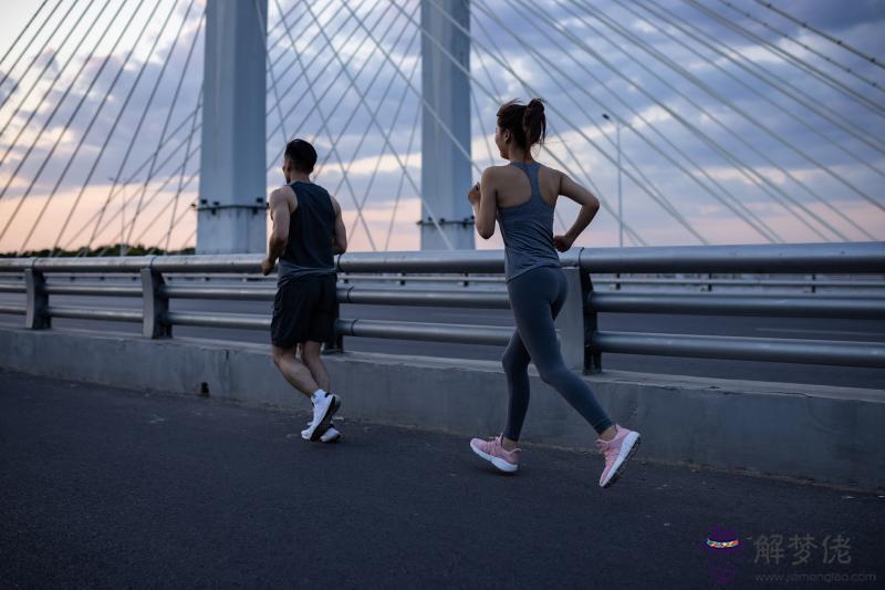
[[[487,436],[503,426],[498,363],[326,356],[342,415]],[[75,330],[0,328],[0,368],[138,390],[308,408],[264,345]],[[863,490],[885,490],[885,391],[604,372],[585,377],[641,457]],[[523,439],[593,448],[595,433],[532,373]]]

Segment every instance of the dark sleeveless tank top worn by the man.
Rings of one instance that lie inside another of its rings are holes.
[[[325,188],[296,180],[289,185],[298,207],[289,220],[289,241],[277,266],[277,282],[335,273],[335,208]]]

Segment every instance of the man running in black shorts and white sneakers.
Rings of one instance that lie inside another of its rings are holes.
[[[316,151],[308,142],[293,139],[285,146],[287,184],[270,195],[273,230],[261,272],[270,275],[279,259],[271,322],[273,363],[313,404],[313,417],[301,437],[331,442],[340,436],[332,416],[341,400],[329,393],[331,380],[320,346],[334,337],[334,256],[347,249],[347,236],[341,205],[310,179],[315,164]]]

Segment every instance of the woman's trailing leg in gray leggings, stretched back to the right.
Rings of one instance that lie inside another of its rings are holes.
[[[562,360],[553,323],[565,301],[565,277],[562,271],[538,269],[517,278],[508,287],[517,330],[541,380],[565,397],[598,434],[614,426],[590,386],[571,372]]]

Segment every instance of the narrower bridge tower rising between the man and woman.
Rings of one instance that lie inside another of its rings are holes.
[[[442,13],[447,13],[464,30]],[[441,229],[456,249],[473,249],[473,211],[467,190],[470,174],[469,0],[421,0],[421,250],[447,249]],[[446,54],[465,68],[458,68]],[[455,145],[451,135],[467,151]],[[439,229],[430,220],[437,218]]]

